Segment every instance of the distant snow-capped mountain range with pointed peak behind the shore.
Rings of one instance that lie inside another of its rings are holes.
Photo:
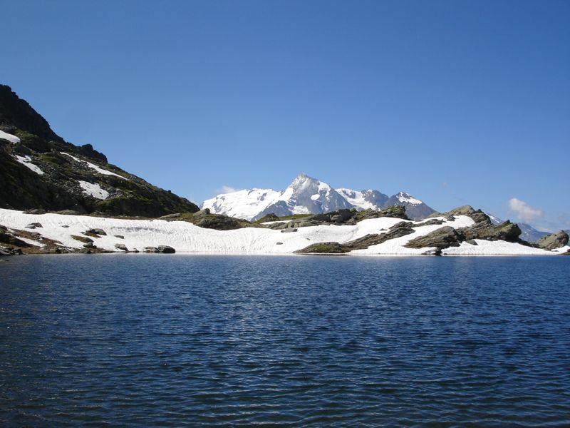
[[[400,192],[393,196],[378,190],[333,189],[327,183],[299,174],[283,191],[273,189],[239,190],[204,200],[202,208],[246,220],[257,220],[274,213],[279,217],[293,214],[320,214],[343,208],[381,210],[391,205],[405,207],[409,218],[425,218],[435,210],[412,195]]]

